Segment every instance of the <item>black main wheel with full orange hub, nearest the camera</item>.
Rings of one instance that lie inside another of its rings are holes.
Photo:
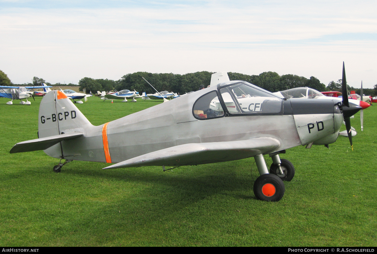
[[[262,174],[254,182],[254,195],[264,201],[279,201],[285,193],[285,186],[280,177],[274,174]]]

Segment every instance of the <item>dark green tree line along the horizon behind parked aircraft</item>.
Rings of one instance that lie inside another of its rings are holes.
[[[97,91],[112,91],[112,90],[136,90],[140,93],[155,93],[156,91],[143,79],[143,77],[160,91],[173,91],[175,93],[184,94],[186,92],[199,90],[199,87],[203,85],[207,87],[211,81],[211,75],[213,72],[202,71],[186,74],[173,74],[173,73],[150,73],[150,72],[134,72],[129,73],[121,77],[120,80],[109,79],[93,79],[82,78],[78,82],[80,86],[79,90],[86,92],[97,93]],[[316,77],[305,78],[293,74],[279,75],[276,72],[262,72],[259,75],[246,75],[237,72],[228,72],[230,80],[242,80],[247,81],[256,86],[262,87],[270,92],[277,92],[287,90],[295,87],[311,87],[320,92],[325,91],[339,91],[342,90],[342,80],[336,82],[330,81],[326,86],[321,83]],[[77,86],[76,84],[51,84],[46,82],[42,78],[33,77],[32,83],[23,84],[23,86],[40,86],[41,83],[45,83],[48,86]],[[8,76],[0,70],[0,85],[12,86]],[[349,87],[348,90],[354,90],[360,94],[360,88]],[[377,94],[377,84],[374,85],[374,89],[363,89],[363,94],[375,95]]]

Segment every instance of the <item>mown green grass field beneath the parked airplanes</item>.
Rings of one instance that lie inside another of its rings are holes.
[[[73,161],[54,173],[59,160],[43,151],[9,154],[37,138],[40,100],[0,99],[0,246],[377,245],[377,105],[364,110],[363,132],[360,113],[351,119],[354,151],[340,136],[280,156],[296,175],[282,200],[264,202],[253,158],[166,172]],[[77,107],[100,125],[157,103],[90,97]]]

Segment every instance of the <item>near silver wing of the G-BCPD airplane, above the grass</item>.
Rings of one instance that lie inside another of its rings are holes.
[[[198,165],[214,162],[233,161],[270,153],[280,146],[274,138],[254,138],[241,141],[190,143],[147,153],[109,168],[143,167],[143,166],[180,166]]]

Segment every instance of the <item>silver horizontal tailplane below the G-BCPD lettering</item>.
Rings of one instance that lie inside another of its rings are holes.
[[[49,136],[46,138],[37,138],[28,141],[23,141],[15,144],[9,153],[22,153],[29,151],[45,150],[60,141],[67,139],[74,139],[83,136],[83,132],[69,132],[61,135]]]

